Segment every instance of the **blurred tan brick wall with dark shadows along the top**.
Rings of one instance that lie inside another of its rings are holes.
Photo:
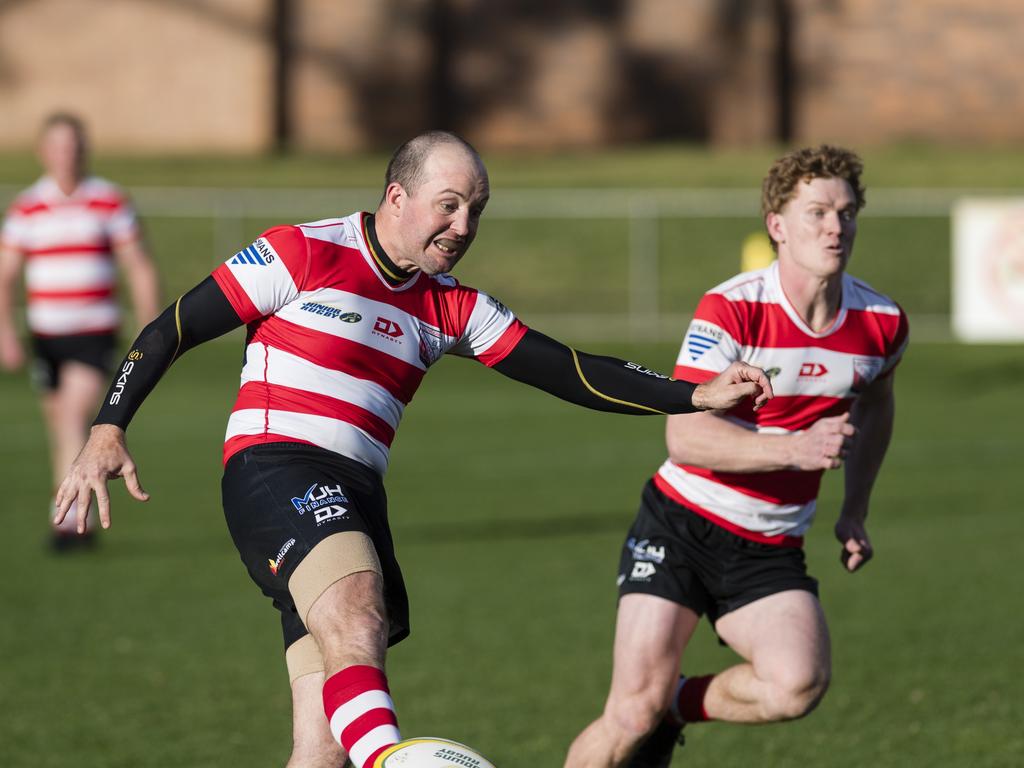
[[[100,147],[275,141],[274,0],[0,2],[0,147],[70,109]],[[278,6],[280,8],[280,6]],[[1024,139],[1021,0],[292,0],[303,150]],[[779,90],[779,12],[791,18]],[[780,93],[787,94],[780,99]],[[786,109],[788,106],[788,109]]]

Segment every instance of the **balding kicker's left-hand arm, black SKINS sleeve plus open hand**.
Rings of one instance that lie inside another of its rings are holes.
[[[174,360],[242,325],[220,287],[207,278],[142,329],[114,375],[88,442],[57,489],[55,522],[62,521],[77,501],[78,530],[84,532],[94,494],[99,522],[110,527],[106,480],[112,477],[124,477],[128,492],[139,501],[150,498],[128,453],[125,429]]]

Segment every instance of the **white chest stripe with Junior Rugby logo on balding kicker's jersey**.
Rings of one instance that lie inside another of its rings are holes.
[[[306,308],[303,309],[303,306]],[[360,319],[346,323],[338,316],[317,310],[317,307],[336,309],[343,313],[356,312]],[[278,316],[303,328],[362,344],[421,371],[426,370],[420,359],[421,326],[430,329],[425,333],[437,338],[443,349],[446,350],[454,342],[452,337],[440,336],[434,326],[398,307],[333,288],[303,291],[296,301],[283,307]]]

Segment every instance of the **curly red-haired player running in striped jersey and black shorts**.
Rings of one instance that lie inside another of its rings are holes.
[[[611,688],[566,766],[664,768],[686,723],[800,718],[824,695],[830,649],[802,549],[821,475],[846,467],[836,537],[844,567],[871,557],[864,520],[893,428],[893,370],[907,322],[846,273],[864,205],[862,165],[823,145],[785,155],[762,213],[778,259],[705,294],[675,375],[736,360],[772,377],[763,410],[670,416],[669,458],[648,481],[618,571]],[[707,614],[742,662],[679,677]]]

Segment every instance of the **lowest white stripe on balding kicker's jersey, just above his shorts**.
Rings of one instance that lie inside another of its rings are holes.
[[[340,419],[327,416],[296,414],[290,411],[243,409],[227,420],[224,439],[264,432],[294,437],[319,445],[327,451],[347,456],[383,475],[387,470],[387,447],[361,429]]]

